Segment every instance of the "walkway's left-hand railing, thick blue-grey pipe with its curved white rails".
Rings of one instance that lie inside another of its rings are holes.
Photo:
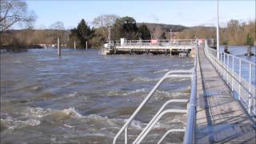
[[[198,51],[198,50],[196,50]],[[140,134],[138,134],[138,137],[134,140],[134,144],[138,144],[142,142],[142,140],[146,137],[147,134],[149,134],[150,130],[153,129],[154,125],[160,118],[162,118],[163,115],[168,113],[187,113],[189,112],[187,120],[186,120],[186,133],[184,137],[184,142],[187,143],[194,143],[194,122],[195,122],[195,109],[196,109],[196,90],[197,90],[197,82],[196,82],[196,68],[197,68],[197,59],[194,58],[194,70],[171,70],[167,72],[154,86],[152,90],[150,90],[150,93],[147,94],[146,98],[141,102],[141,104],[138,106],[138,108],[134,111],[134,113],[130,116],[130,118],[126,121],[124,126],[118,131],[118,134],[115,135],[113,143],[115,144],[118,137],[124,132],[124,141],[125,143],[128,143],[128,126],[130,126],[130,123],[134,120],[136,115],[142,110],[142,107],[146,105],[146,102],[150,100],[150,98],[153,96],[154,92],[158,89],[158,87],[164,82],[166,78],[192,78],[191,80],[191,96],[190,96],[190,104],[188,109],[189,110],[177,110],[177,109],[170,109],[170,110],[164,110],[165,107],[170,104],[171,102],[188,102],[186,99],[171,99],[162,105],[160,110],[158,110],[157,114],[154,115],[154,117],[150,120],[150,122],[146,125],[146,127],[142,130]],[[183,129],[178,130],[168,130],[166,134],[169,134],[170,132],[181,132],[184,131]],[[159,140],[158,143],[162,142],[162,140],[166,137],[166,134],[162,136],[162,138]]]

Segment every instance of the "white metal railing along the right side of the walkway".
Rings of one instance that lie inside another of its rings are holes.
[[[256,89],[255,89],[255,68],[254,62],[238,58],[232,54],[218,52],[210,48],[206,42],[205,53],[222,79],[226,82],[234,95],[251,115],[256,115]]]

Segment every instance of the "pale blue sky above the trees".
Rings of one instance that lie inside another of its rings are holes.
[[[26,0],[26,3],[28,9],[37,15],[34,27],[38,29],[48,28],[58,21],[63,22],[66,29],[70,29],[76,27],[82,18],[92,26],[93,19],[102,14],[130,16],[136,22],[183,26],[215,26],[217,18],[217,0]],[[219,0],[218,6],[220,25],[230,19],[255,19],[253,0]]]

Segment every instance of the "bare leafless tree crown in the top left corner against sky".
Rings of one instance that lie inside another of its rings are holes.
[[[0,31],[10,29],[14,24],[32,26],[35,21],[35,14],[27,10],[26,2],[21,0],[1,0],[0,10]]]

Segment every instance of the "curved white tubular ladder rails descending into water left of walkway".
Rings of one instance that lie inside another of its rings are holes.
[[[196,58],[195,58],[196,59]],[[195,62],[196,63],[196,62]],[[135,116],[138,114],[140,110],[142,110],[142,107],[145,106],[146,102],[150,100],[152,95],[156,90],[158,90],[158,87],[166,80],[166,78],[193,78],[194,79],[194,70],[170,70],[168,71],[154,86],[152,90],[150,90],[150,93],[147,94],[146,98],[142,101],[142,103],[138,106],[138,108],[134,111],[134,113],[130,116],[130,118],[126,121],[124,126],[118,131],[118,134],[115,135],[113,144],[116,143],[118,137],[122,134],[122,132],[125,133],[125,144],[128,143],[128,126],[130,126],[130,123],[134,120]],[[192,82],[193,84],[193,82]],[[192,89],[191,89],[192,91]],[[170,110],[164,110],[165,107],[173,102],[189,102],[188,99],[171,99],[162,105],[162,107],[158,110],[157,114],[154,115],[154,117],[150,120],[150,122],[147,124],[147,126],[142,130],[140,134],[138,134],[138,137],[134,140],[134,144],[139,144],[142,142],[142,140],[146,137],[147,134],[149,134],[150,130],[153,129],[154,125],[158,122],[160,118],[162,118],[165,114],[170,113],[178,113],[178,114],[186,114],[188,110],[179,110],[179,109],[170,109]],[[191,105],[192,106],[192,105]],[[184,132],[185,129],[172,129],[168,130],[166,134],[162,136],[162,138],[158,141],[158,143],[161,143],[164,138],[166,138],[166,135],[171,132]],[[185,134],[186,135],[186,134]]]

